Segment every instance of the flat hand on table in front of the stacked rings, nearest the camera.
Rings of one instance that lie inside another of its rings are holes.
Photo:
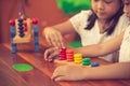
[[[83,69],[80,66],[57,67],[52,75],[54,81],[81,81],[84,80]]]

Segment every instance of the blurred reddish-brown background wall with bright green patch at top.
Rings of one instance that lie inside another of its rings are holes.
[[[18,18],[22,4],[26,15],[37,17],[39,35],[46,26],[64,22],[80,12],[90,9],[91,0],[0,0],[0,43],[10,42],[10,19]],[[72,39],[76,37],[72,34]]]

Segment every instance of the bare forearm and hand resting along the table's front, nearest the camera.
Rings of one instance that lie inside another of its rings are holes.
[[[54,81],[130,78],[130,62],[101,67],[61,66],[52,75]]]

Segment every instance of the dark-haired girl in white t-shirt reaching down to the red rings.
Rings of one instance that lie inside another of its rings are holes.
[[[62,47],[64,46],[63,35],[77,32],[81,38],[82,46],[99,44],[105,42],[125,31],[129,20],[122,15],[121,0],[91,0],[92,10],[82,11],[75,15],[69,20],[62,24],[47,27],[43,30],[43,35],[50,45]],[[47,49],[44,58],[52,60],[56,53],[50,55],[53,51]],[[80,52],[80,49],[79,49]],[[108,61],[113,61],[113,54],[102,56]]]

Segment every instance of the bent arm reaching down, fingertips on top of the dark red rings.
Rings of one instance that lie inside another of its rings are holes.
[[[72,23],[67,20],[52,27],[46,27],[42,34],[50,45],[61,47],[64,46],[63,35],[74,31]]]

